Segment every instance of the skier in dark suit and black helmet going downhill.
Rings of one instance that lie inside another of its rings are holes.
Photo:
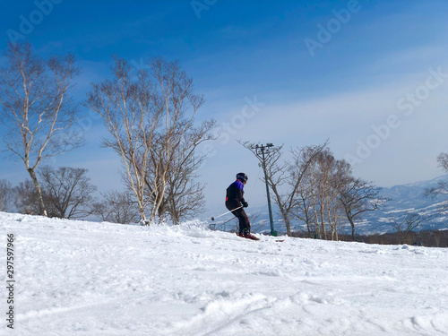
[[[226,208],[237,217],[239,220],[239,231],[237,235],[239,237],[245,237],[249,239],[259,240],[259,238],[251,235],[251,226],[249,219],[247,218],[246,211],[243,208],[247,208],[249,204],[244,198],[244,187],[247,183],[247,175],[245,173],[237,174],[237,181],[228,185],[226,194]]]

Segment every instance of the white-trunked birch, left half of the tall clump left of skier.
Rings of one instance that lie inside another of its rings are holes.
[[[154,132],[159,126],[161,108],[154,95],[150,74],[134,69],[123,58],[115,58],[113,79],[92,83],[84,104],[102,117],[111,138],[103,145],[116,151],[125,166],[125,176],[135,195],[144,224],[145,208],[151,197],[145,194],[145,177]]]

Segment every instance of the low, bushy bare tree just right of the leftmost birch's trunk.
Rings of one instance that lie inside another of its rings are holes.
[[[90,215],[92,194],[97,191],[88,169],[44,166],[39,169],[43,198],[50,217],[80,219]]]

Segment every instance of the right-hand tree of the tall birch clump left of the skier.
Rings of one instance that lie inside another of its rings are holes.
[[[181,213],[198,209],[202,200],[203,187],[192,183],[192,179],[205,156],[195,157],[195,150],[202,142],[213,139],[211,130],[216,123],[205,120],[194,125],[204,99],[194,92],[193,79],[177,62],[153,58],[150,65],[163,110],[162,126],[154,138],[146,175],[148,194],[153,199],[151,220],[169,210],[178,222]],[[187,194],[190,202],[185,199]]]

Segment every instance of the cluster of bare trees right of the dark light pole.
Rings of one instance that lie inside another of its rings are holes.
[[[254,151],[253,144],[243,144]],[[289,160],[283,159],[282,147],[270,150],[263,168],[287,234],[292,235],[296,220],[306,223],[310,236],[338,240],[340,223],[349,221],[355,239],[361,214],[386,201],[379,189],[354,177],[349,163],[335,159],[327,142],[292,149]]]

